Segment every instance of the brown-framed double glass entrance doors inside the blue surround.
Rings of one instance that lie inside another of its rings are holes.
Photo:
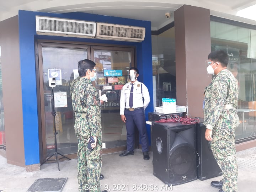
[[[91,59],[96,63],[98,78],[93,84],[101,95],[106,94],[108,98],[108,102],[101,106],[103,153],[125,150],[126,126],[120,118],[119,96],[127,83],[127,71],[130,66],[134,66],[134,48],[39,42],[38,58],[43,153],[41,161],[55,151],[53,110],[56,112],[58,152],[69,158],[76,158],[77,137],[70,84],[78,76],[78,61],[83,59]],[[56,78],[56,87],[49,87],[49,77]]]

